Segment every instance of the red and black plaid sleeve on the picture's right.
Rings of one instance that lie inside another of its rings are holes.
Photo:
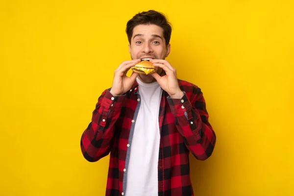
[[[175,125],[181,134],[186,147],[198,160],[206,160],[214,150],[216,134],[208,122],[203,94],[198,87],[180,99],[168,97]]]

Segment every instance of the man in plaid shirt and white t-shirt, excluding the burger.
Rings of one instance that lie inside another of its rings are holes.
[[[215,147],[201,90],[177,79],[165,60],[171,32],[165,16],[154,10],[128,21],[132,60],[116,69],[82,134],[85,159],[96,162],[110,153],[106,196],[193,196],[189,152],[205,160]],[[126,76],[142,59],[157,71]]]

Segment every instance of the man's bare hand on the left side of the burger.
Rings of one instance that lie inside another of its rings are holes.
[[[126,76],[126,73],[129,71],[131,67],[135,66],[140,61],[141,59],[124,61],[118,67],[118,69],[115,70],[112,87],[110,90],[110,93],[113,96],[121,96],[125,92],[130,90],[139,73],[133,72],[130,77]]]

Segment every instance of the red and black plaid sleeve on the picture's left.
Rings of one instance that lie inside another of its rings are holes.
[[[112,96],[110,89],[106,89],[98,98],[92,121],[80,140],[81,151],[86,160],[96,162],[109,154],[113,145],[115,123],[120,116],[124,98],[125,95]]]

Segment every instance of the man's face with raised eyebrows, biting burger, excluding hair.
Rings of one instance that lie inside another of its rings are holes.
[[[171,50],[171,45],[166,46],[163,28],[157,25],[137,25],[133,29],[129,52],[132,59],[165,59]],[[158,74],[162,73],[157,68]],[[156,81],[151,74],[139,74],[139,79],[145,83]]]

